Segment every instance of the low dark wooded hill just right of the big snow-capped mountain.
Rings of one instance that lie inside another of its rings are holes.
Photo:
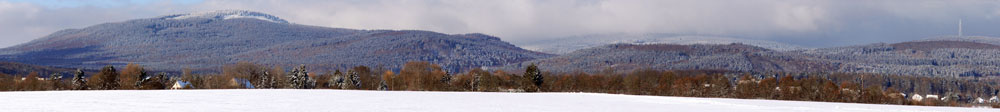
[[[724,70],[740,72],[818,72],[834,69],[832,64],[814,61],[800,54],[761,47],[733,44],[612,44],[582,49],[553,58],[508,65],[504,69],[523,68],[537,63],[553,72],[629,72],[654,70]]]

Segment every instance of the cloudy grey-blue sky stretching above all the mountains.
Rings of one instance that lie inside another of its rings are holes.
[[[1000,0],[0,0],[0,47],[63,29],[232,9],[294,24],[484,33],[513,43],[670,33],[833,47],[957,35],[959,20],[964,35],[1000,37]]]

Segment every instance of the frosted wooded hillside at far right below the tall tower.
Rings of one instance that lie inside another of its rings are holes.
[[[805,50],[798,53],[843,63],[839,72],[919,76],[1000,75],[1000,47],[968,41],[911,41]]]

